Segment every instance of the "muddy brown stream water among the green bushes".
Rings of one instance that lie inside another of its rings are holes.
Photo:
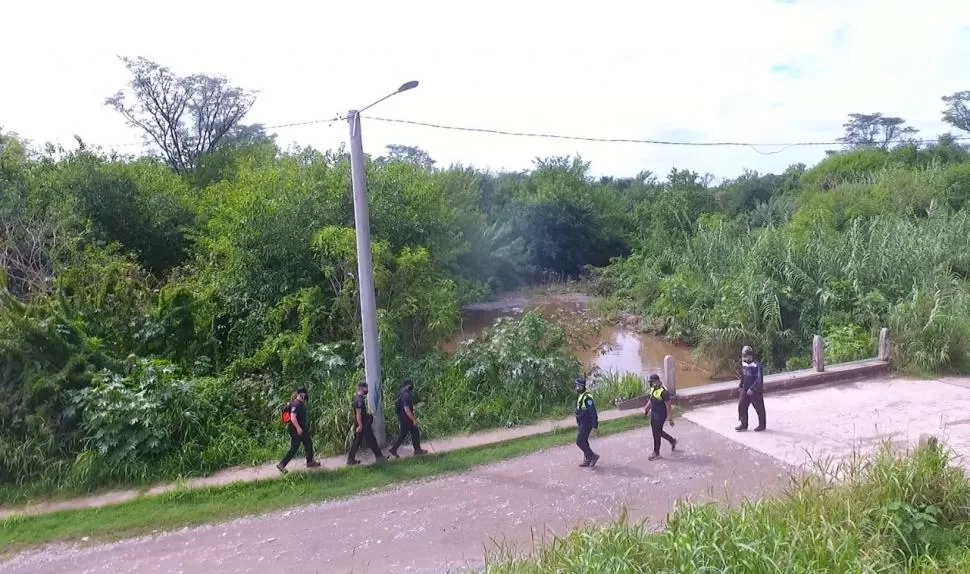
[[[590,314],[591,298],[583,295],[542,296],[533,299],[507,298],[501,301],[469,306],[462,316],[461,331],[446,345],[453,351],[459,343],[474,339],[501,317],[514,317],[531,309],[542,313],[575,317],[582,320]],[[597,367],[604,372],[633,373],[646,377],[660,374],[664,356],[671,355],[678,363],[677,387],[691,387],[711,382],[709,369],[691,356],[691,350],[663,339],[637,333],[619,326],[609,326],[594,333],[586,341],[588,348],[576,349],[579,360],[587,368]]]

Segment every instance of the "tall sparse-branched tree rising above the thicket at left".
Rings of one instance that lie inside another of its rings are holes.
[[[254,93],[222,77],[177,76],[147,58],[121,61],[132,76],[128,91],[119,90],[105,104],[145,132],[176,173],[191,173],[234,130],[240,137],[252,132],[239,124],[256,101]]]

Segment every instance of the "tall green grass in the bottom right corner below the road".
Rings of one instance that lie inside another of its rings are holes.
[[[531,555],[509,547],[490,554],[490,574],[964,574],[970,484],[940,447],[903,457],[884,450],[794,481],[780,498],[679,506],[662,532],[624,517]]]

